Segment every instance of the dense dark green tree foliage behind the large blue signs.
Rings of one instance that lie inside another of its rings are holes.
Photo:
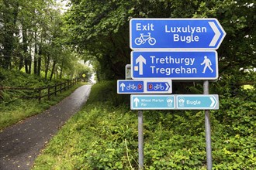
[[[246,0],[71,0],[65,23],[69,42],[99,62],[99,74],[120,79],[130,63],[131,18],[216,18],[227,32],[218,49],[220,76],[235,75],[236,85],[254,82],[244,76],[256,67],[255,17],[255,3]]]

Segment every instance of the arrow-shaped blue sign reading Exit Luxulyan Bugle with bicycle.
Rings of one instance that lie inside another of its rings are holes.
[[[226,36],[217,19],[131,19],[131,49],[218,49]]]

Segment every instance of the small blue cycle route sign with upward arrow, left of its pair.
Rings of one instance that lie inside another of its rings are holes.
[[[144,81],[117,80],[117,93],[144,93]]]

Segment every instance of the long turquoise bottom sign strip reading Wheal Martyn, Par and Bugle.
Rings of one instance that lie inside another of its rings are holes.
[[[209,95],[131,95],[131,110],[217,110],[219,96]]]

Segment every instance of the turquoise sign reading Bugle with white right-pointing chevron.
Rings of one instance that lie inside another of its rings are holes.
[[[219,109],[218,95],[177,95],[177,109]]]

